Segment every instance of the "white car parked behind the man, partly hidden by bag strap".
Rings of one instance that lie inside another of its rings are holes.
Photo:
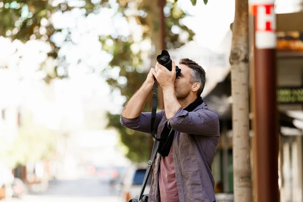
[[[122,201],[128,202],[131,198],[138,196],[140,194],[141,186],[146,172],[146,167],[142,166],[131,166],[127,169],[123,184],[121,195],[123,197]],[[145,190],[143,194],[148,194],[150,189],[151,173],[149,175],[149,180],[147,181]]]

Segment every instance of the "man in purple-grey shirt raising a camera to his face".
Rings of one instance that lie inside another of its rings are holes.
[[[172,128],[174,134],[167,137],[173,138],[168,146],[162,143],[161,148],[160,142],[148,201],[213,202],[212,163],[219,141],[219,119],[200,97],[206,80],[204,69],[189,59],[181,59],[178,67],[181,75],[177,78],[174,62],[172,71],[159,63],[151,68],[120,121],[130,129],[150,132],[151,113],[142,110],[155,77],[163,89],[165,108],[156,115],[155,133],[157,138],[167,136],[163,131]]]

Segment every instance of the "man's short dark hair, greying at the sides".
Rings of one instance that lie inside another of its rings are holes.
[[[194,62],[188,58],[181,59],[179,64],[186,65],[187,67],[192,69],[190,83],[199,82],[201,84],[200,88],[197,91],[197,97],[199,97],[201,95],[201,93],[203,92],[205,82],[206,82],[205,70],[200,65],[198,65],[196,62]]]

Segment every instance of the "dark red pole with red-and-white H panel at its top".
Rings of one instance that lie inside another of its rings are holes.
[[[274,0],[252,0],[257,201],[279,201]]]

